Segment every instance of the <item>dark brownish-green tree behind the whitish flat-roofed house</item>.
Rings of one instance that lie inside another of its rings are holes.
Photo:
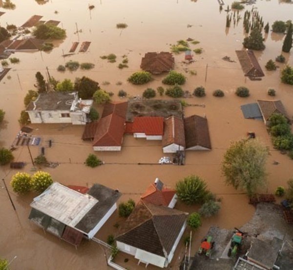
[[[74,83],[74,90],[78,91],[78,96],[82,99],[91,99],[99,89],[99,83],[88,77],[77,78]]]

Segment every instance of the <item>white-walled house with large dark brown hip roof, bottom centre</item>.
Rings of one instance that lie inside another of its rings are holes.
[[[161,268],[171,262],[187,226],[187,214],[140,201],[116,237],[117,248],[146,266]]]

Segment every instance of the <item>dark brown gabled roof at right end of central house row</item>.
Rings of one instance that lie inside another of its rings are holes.
[[[211,149],[207,118],[198,115],[184,118],[184,132],[187,150],[195,146]]]

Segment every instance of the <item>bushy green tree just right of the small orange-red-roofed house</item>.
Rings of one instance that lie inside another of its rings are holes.
[[[204,203],[209,195],[205,181],[194,175],[179,180],[175,189],[178,198],[186,204]]]

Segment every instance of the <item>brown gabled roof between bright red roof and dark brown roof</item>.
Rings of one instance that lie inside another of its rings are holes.
[[[174,115],[164,120],[163,147],[172,143],[185,147],[184,121]]]

